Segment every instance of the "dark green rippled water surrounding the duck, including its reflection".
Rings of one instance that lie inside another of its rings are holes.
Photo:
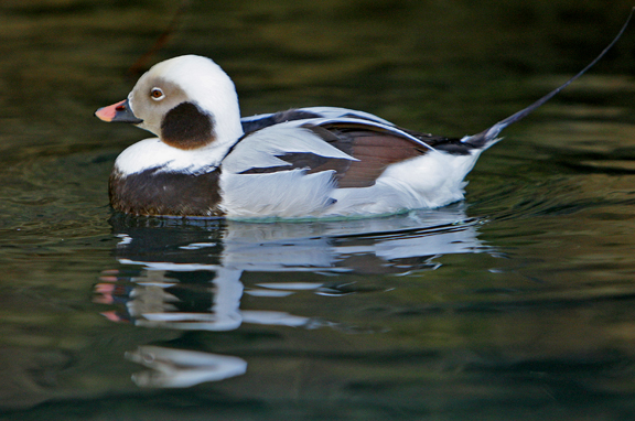
[[[213,57],[244,115],[475,133],[564,82],[626,1],[3,1],[0,419],[631,420],[631,28],[505,131],[463,203],[385,218],[127,218],[93,117],[128,69]]]

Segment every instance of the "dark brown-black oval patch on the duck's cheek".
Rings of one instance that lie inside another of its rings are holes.
[[[161,121],[161,139],[179,149],[196,149],[215,139],[214,118],[192,102],[181,102]]]

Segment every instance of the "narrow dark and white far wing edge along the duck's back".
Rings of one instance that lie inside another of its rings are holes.
[[[378,122],[386,126],[395,126],[390,121],[377,117],[373,114],[340,107],[293,108],[273,114],[261,114],[251,117],[243,117],[240,119],[240,123],[243,125],[243,131],[245,133],[249,133],[252,131],[261,130],[266,127],[279,125],[281,122],[315,118],[356,118],[365,121],[367,120]]]

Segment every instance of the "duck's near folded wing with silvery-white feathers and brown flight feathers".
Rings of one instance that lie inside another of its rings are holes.
[[[367,187],[391,164],[431,151],[469,154],[459,139],[417,133],[359,118],[288,121],[247,133],[223,162],[235,174],[332,172],[336,187]]]

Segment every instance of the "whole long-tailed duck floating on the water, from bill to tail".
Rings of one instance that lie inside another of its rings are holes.
[[[631,17],[628,18],[631,19]],[[303,218],[434,208],[463,198],[463,179],[529,107],[462,139],[399,128],[374,115],[313,107],[240,119],[234,83],[212,60],[154,65],[104,121],[158,136],[126,149],[109,181],[110,204],[136,215]]]

